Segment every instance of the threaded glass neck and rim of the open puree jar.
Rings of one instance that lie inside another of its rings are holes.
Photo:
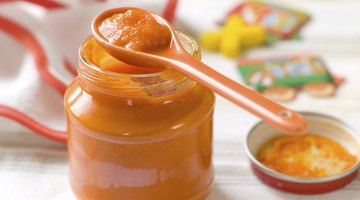
[[[196,41],[182,32],[177,34],[183,47],[195,58],[200,59],[201,54]],[[102,69],[92,60],[95,54],[90,52],[91,42],[95,43],[92,36],[88,37],[79,49],[78,74],[85,90],[137,99],[169,96],[194,85],[188,77],[169,68],[160,72],[142,74],[118,73]]]

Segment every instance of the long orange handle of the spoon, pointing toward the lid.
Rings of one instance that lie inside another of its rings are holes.
[[[213,70],[189,54],[167,60],[177,71],[257,115],[285,133],[304,133],[307,123],[302,115],[262,96]],[[175,63],[174,63],[175,62]]]

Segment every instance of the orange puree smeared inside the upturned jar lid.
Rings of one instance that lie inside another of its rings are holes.
[[[318,134],[275,137],[261,146],[257,159],[275,171],[305,178],[336,175],[357,162],[339,143]]]

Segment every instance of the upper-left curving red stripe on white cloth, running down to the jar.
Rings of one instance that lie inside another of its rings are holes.
[[[3,16],[0,16],[0,29],[17,39],[32,53],[35,58],[36,69],[41,78],[63,95],[66,90],[66,85],[50,73],[45,51],[33,34],[19,24]]]

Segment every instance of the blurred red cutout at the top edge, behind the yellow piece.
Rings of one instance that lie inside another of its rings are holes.
[[[280,39],[293,37],[310,20],[310,16],[302,11],[258,1],[247,1],[236,6],[227,17],[234,14],[240,15],[248,24],[262,24],[268,33]]]

